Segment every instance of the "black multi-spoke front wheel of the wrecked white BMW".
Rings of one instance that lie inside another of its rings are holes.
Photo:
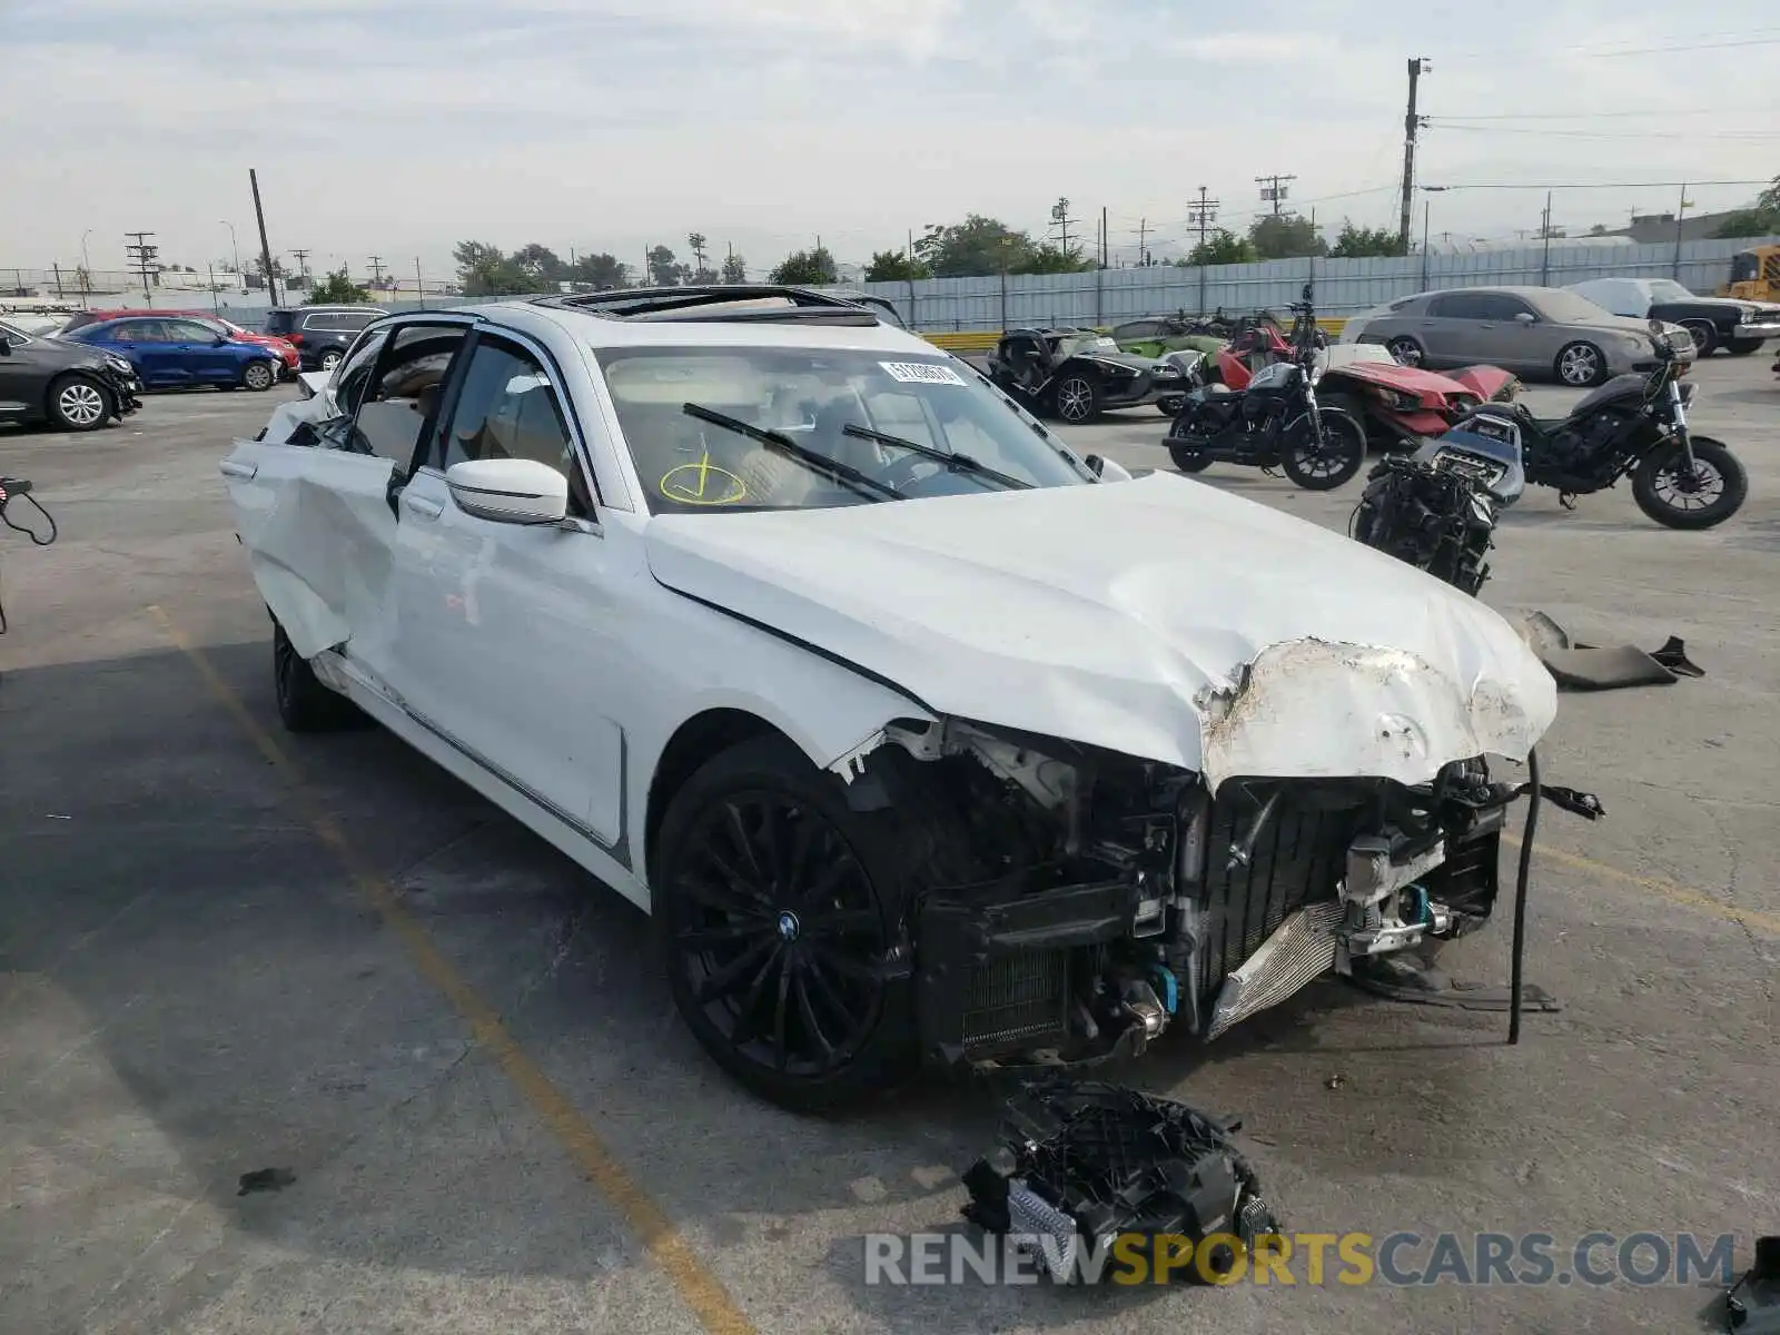
[[[655,840],[653,918],[675,1006],[712,1061],[805,1112],[904,1080],[918,1032],[902,924],[947,874],[929,870],[942,849],[963,847],[947,829],[943,808],[854,812],[781,737],[687,780]]]

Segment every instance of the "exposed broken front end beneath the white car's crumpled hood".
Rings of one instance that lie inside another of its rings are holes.
[[[1057,1066],[1218,1038],[1321,974],[1451,940],[1497,897],[1486,764],[1435,781],[1228,778],[961,723],[892,730],[952,769],[1002,874],[911,906],[929,1063]]]

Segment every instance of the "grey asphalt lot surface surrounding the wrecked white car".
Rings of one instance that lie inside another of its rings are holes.
[[[1696,429],[1753,477],[1725,527],[1659,529],[1622,488],[1533,493],[1499,530],[1488,602],[1682,635],[1707,673],[1561,698],[1547,778],[1609,813],[1540,831],[1529,979],[1563,1009],[1509,1048],[1502,1016],[1328,983],[1112,1072],[1241,1114],[1290,1228],[1540,1232],[1563,1260],[1591,1230],[1736,1234],[1739,1260],[1776,1232],[1768,361],[1695,376]],[[279,733],[215,465],[287,393],[0,433],[61,523],[0,534],[0,1331],[1698,1328],[1698,1282],[867,1285],[865,1234],[956,1228],[1006,1091],[767,1107],[694,1047],[627,902],[376,730]],[[1164,425],[1070,434],[1166,466]],[[1200,481],[1330,527],[1358,495]],[[1449,959],[1501,981],[1506,947],[1504,920]]]

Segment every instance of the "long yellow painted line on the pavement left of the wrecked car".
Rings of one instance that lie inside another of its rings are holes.
[[[605,1141],[600,1139],[600,1134],[570,1102],[568,1095],[557,1089],[543,1068],[520,1047],[518,1040],[500,1022],[500,1013],[440,954],[425,929],[402,908],[388,881],[365,865],[340,833],[340,826],[315,801],[303,773],[285,755],[285,749],[272,740],[272,735],[253,719],[247,707],[240,703],[240,696],[230,689],[203,650],[192,644],[164,609],[150,607],[148,611],[160,623],[167,639],[190,660],[205,687],[247,740],[285,776],[303,819],[315,831],[315,837],[333,849],[354,888],[377,910],[383,922],[408,947],[408,954],[413,958],[420,975],[445,993],[452,1009],[470,1027],[475,1041],[495,1057],[513,1088],[543,1118],[545,1125],[550,1127],[582,1173],[618,1207],[625,1223],[643,1239],[650,1257],[673,1280],[675,1289],[680,1290],[680,1298],[698,1315],[700,1324],[707,1331],[712,1331],[712,1335],[755,1335],[755,1324],[742,1315],[740,1307],[735,1305],[723,1282],[698,1262],[692,1248],[687,1246],[687,1241],[673,1226],[660,1205],[623,1169],[605,1146]]]

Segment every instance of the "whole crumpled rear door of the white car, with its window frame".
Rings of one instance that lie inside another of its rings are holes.
[[[427,326],[427,365],[418,365],[418,335],[384,340],[361,397],[340,404],[342,413],[320,427],[320,443],[237,440],[222,461],[255,584],[297,653],[344,646],[354,675],[397,698],[390,684],[397,495],[436,425],[440,388],[466,328],[466,320]]]

